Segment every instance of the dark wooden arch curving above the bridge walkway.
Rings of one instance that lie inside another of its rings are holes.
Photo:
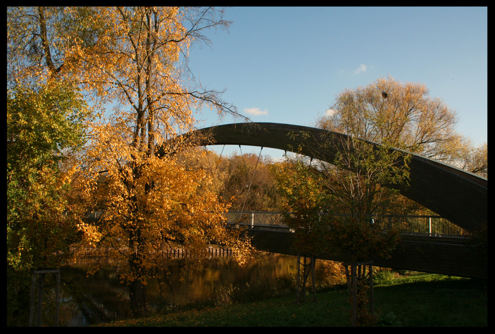
[[[300,125],[237,123],[199,129],[180,138],[194,138],[198,146],[271,147],[331,161],[338,144],[347,136]],[[467,231],[476,231],[488,221],[487,178],[419,154],[409,154],[412,155],[409,187],[399,189],[401,194]]]

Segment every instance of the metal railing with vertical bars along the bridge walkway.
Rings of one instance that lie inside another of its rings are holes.
[[[261,211],[230,211],[227,214],[228,224],[239,224],[250,227],[287,227],[285,213]],[[329,213],[321,213],[322,217]],[[334,215],[338,219],[348,219],[349,215]],[[370,222],[379,224],[383,230],[395,227],[402,234],[420,234],[426,236],[467,236],[468,233],[440,216],[428,215],[373,215]]]

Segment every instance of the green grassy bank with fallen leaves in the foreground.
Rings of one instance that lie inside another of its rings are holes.
[[[374,288],[378,326],[488,326],[486,283],[442,275],[382,279]],[[194,306],[100,326],[309,327],[350,326],[347,289],[319,292],[317,301],[295,296],[219,307]]]

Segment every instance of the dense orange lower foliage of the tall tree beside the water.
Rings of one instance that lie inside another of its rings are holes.
[[[107,172],[89,182],[88,187],[89,198],[101,205],[105,215],[99,230],[84,224],[80,226],[88,242],[120,239],[122,245],[137,243],[141,254],[139,260],[133,262],[137,268],[155,267],[162,260],[159,257],[162,247],[181,243],[190,251],[198,251],[211,241],[222,242],[238,249],[239,261],[245,259],[250,246],[226,229],[223,213],[227,207],[208,188],[212,182],[210,174],[167,157],[140,155],[136,148],[134,154],[117,162],[113,153],[120,143],[107,145],[112,149],[102,149],[99,144],[95,147],[101,154],[97,163]],[[133,152],[133,149],[120,150],[121,153],[126,151]],[[124,167],[128,174],[119,172]],[[139,276],[136,275],[129,278]]]

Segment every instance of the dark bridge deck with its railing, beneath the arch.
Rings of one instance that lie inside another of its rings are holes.
[[[228,223],[248,227],[246,233],[251,237],[251,242],[256,249],[297,255],[297,249],[293,246],[295,233],[280,219],[283,216],[282,213],[231,212],[228,215],[230,215]],[[240,216],[243,220],[236,220],[236,217]],[[271,218],[263,222],[259,217]],[[377,222],[386,218],[387,222],[392,221],[392,225],[401,226],[401,241],[390,258],[372,258],[374,266],[469,278],[488,278],[487,263],[469,246],[469,236],[462,229],[455,230],[455,225],[449,226],[448,222],[441,217],[388,216],[376,218],[381,218],[381,220],[377,219]],[[454,233],[454,231],[457,232]],[[341,262],[347,262],[350,259],[349,254],[331,246],[327,253],[317,254],[317,257]]]

